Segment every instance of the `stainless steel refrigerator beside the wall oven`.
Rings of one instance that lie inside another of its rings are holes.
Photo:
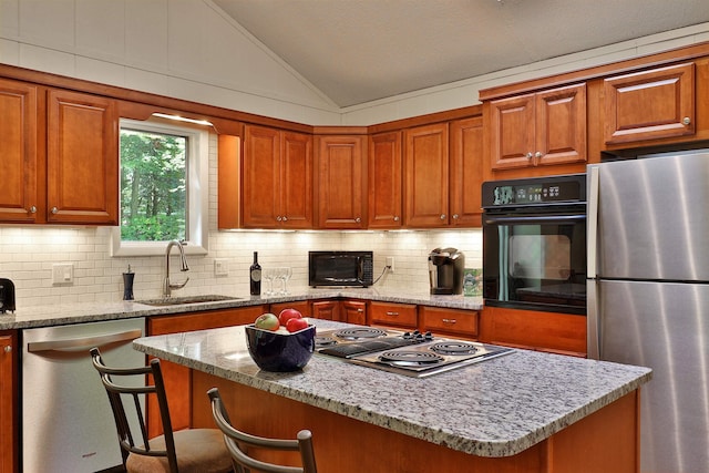
[[[650,367],[640,471],[709,471],[709,150],[588,166],[588,354]]]

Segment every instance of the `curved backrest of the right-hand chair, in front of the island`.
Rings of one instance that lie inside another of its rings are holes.
[[[248,473],[249,469],[267,473],[317,473],[312,450],[312,434],[310,431],[301,430],[295,440],[266,439],[242,432],[232,425],[224,401],[219,395],[219,390],[212,388],[207,391],[207,395],[212,401],[212,415],[219,430],[224,433],[224,442],[232,454],[237,473]],[[284,466],[256,460],[249,456],[249,446],[267,450],[298,451],[300,452],[302,467]]]

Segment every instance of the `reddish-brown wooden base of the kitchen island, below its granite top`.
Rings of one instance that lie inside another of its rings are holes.
[[[270,438],[312,432],[318,471],[338,473],[630,473],[639,470],[639,392],[634,391],[512,456],[484,457],[354,420],[201,371],[193,376],[193,424],[214,426],[207,390],[217,387],[237,429]],[[342,445],[357,445],[345,449]],[[297,453],[278,461],[298,465]],[[264,457],[271,460],[274,457]]]

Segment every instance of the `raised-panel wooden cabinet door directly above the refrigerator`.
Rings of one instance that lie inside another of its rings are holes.
[[[606,144],[695,134],[695,64],[604,81]]]

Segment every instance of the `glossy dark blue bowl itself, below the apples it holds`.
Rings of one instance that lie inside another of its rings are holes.
[[[292,333],[279,333],[246,326],[248,352],[265,371],[297,371],[308,364],[315,351],[315,326]]]

